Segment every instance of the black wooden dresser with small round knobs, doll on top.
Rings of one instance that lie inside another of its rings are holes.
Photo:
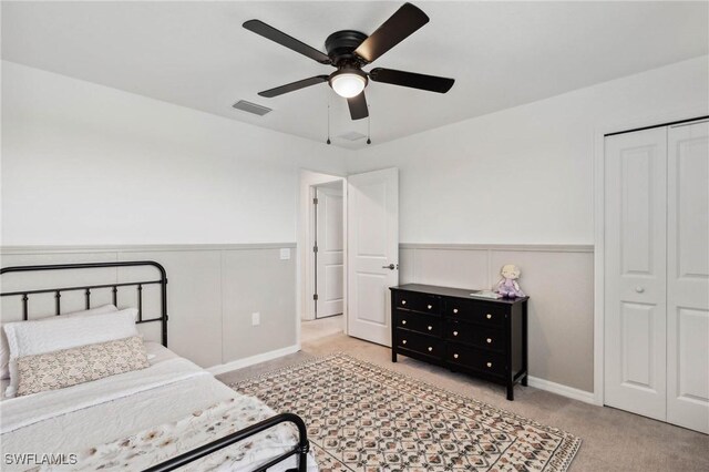
[[[506,386],[527,384],[527,299],[481,299],[472,290],[391,287],[391,360],[397,355]]]

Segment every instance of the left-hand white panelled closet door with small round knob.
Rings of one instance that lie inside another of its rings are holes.
[[[605,145],[605,403],[665,420],[667,129]]]

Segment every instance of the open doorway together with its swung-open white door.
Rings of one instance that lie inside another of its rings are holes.
[[[353,174],[347,179],[301,171],[298,217],[301,347],[304,342],[340,331],[391,346],[389,288],[399,283],[398,185],[397,168]],[[329,205],[332,205],[330,215]],[[320,222],[318,215],[323,215]],[[323,226],[326,229],[318,230]],[[327,234],[327,228],[338,226],[339,232],[332,229]],[[322,270],[326,267],[327,271],[328,266],[330,274]]]

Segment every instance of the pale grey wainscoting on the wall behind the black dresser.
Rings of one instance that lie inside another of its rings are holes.
[[[578,392],[594,390],[592,246],[402,244],[399,258],[401,284],[471,289],[492,288],[505,264],[520,266],[531,297],[530,377],[535,387],[589,398]]]

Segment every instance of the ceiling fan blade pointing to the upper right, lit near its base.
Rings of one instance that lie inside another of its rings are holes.
[[[404,3],[377,31],[362,41],[354,53],[367,62],[373,62],[428,22],[429,17],[424,12],[411,3]]]

